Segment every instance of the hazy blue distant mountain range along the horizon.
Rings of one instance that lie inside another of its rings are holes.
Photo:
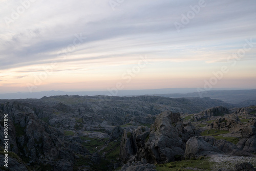
[[[237,104],[237,106],[248,106],[256,104],[255,90],[223,90],[213,89],[211,91],[197,92],[197,88],[176,88],[176,89],[152,89],[152,90],[119,90],[119,91],[82,91],[82,92],[65,92],[65,91],[42,91],[32,93],[7,93],[0,94],[0,99],[26,99],[26,98],[42,98],[44,96],[59,95],[79,95],[79,96],[140,96],[155,95],[162,97],[210,97],[211,99],[219,99],[227,103]]]

